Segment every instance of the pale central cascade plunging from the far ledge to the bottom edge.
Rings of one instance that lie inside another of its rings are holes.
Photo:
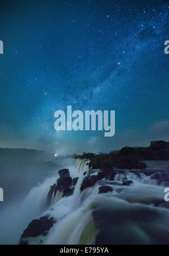
[[[69,198],[61,198],[61,192],[57,191],[55,197],[51,200],[52,216],[55,217],[57,223],[46,239],[43,238],[43,244],[78,244],[86,224],[92,220],[92,211],[88,209],[88,206],[83,208],[83,204],[80,205],[81,184],[89,171],[87,160],[77,159],[75,165],[77,167],[78,182],[74,193]],[[44,215],[51,215],[51,210],[47,210]],[[39,240],[41,239],[42,237],[39,237]],[[91,240],[93,241],[94,238],[92,237]],[[35,242],[37,242],[37,239],[30,239],[31,244],[35,244]]]

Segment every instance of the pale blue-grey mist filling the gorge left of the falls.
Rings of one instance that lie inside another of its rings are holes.
[[[57,171],[67,162],[45,151],[0,149],[0,187],[4,191],[4,202],[0,204],[1,245],[19,243],[29,222],[45,210],[45,203],[38,205],[39,196],[43,198],[39,187],[45,181],[47,193]],[[33,196],[30,191],[34,191]]]

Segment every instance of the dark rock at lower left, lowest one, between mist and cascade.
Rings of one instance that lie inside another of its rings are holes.
[[[38,220],[33,220],[29,225],[28,228],[25,229],[24,233],[22,234],[21,238],[27,237],[38,237],[38,236],[45,236],[47,232],[53,227],[56,221],[53,217],[50,219],[45,216],[41,217]],[[25,241],[23,241],[25,242]]]

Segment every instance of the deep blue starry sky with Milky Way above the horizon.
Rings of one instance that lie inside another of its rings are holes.
[[[169,140],[168,1],[0,3],[0,147],[108,152]],[[115,110],[116,132],[55,131],[54,113]]]

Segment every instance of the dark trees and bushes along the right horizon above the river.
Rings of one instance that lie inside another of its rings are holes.
[[[169,142],[154,141],[149,147],[124,147],[119,151],[99,155],[84,152],[75,158],[89,159],[88,165],[92,169],[145,169],[145,160],[169,160]]]

